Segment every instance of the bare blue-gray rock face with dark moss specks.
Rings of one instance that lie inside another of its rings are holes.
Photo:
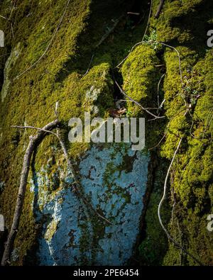
[[[140,232],[148,162],[148,154],[121,144],[93,146],[80,160],[84,196],[111,224],[81,203],[61,167],[55,174],[60,188],[54,192],[45,185],[48,167],[34,175],[33,211],[43,223],[40,264],[126,264]]]

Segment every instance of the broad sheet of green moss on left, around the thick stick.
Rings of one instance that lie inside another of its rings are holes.
[[[3,2],[0,13],[9,16],[9,2]],[[0,28],[6,34],[6,47],[0,50],[14,52],[20,43],[20,54],[13,63],[9,80],[11,84],[7,91],[4,103],[1,103],[1,172],[0,177],[6,181],[1,195],[2,211],[6,213],[6,225],[9,228],[13,217],[14,203],[19,185],[23,155],[28,145],[28,137],[34,130],[11,129],[11,125],[34,125],[43,127],[55,118],[53,106],[60,103],[59,116],[65,125],[62,134],[65,138],[70,157],[77,159],[82,152],[89,148],[87,144],[70,144],[67,141],[67,123],[72,117],[83,118],[84,111],[99,110],[99,116],[108,115],[108,108],[114,107],[114,87],[111,79],[111,67],[117,64],[132,44],[136,43],[145,28],[144,22],[135,30],[131,26],[126,28],[126,17],[120,21],[114,35],[112,33],[102,45],[95,50],[94,59],[88,74],[89,61],[94,47],[99,43],[114,21],[132,6],[131,1],[70,1],[58,33],[55,35],[48,51],[35,67],[26,74],[15,79],[19,74],[31,67],[45,52],[55,29],[60,22],[60,16],[65,9],[66,1],[16,1],[16,9],[11,20],[13,23],[14,38],[11,38],[11,26],[4,19],[0,19]],[[124,5],[125,4],[125,5]],[[113,9],[112,8],[113,5]],[[141,4],[141,6],[143,6]],[[143,8],[141,9],[143,10]],[[100,16],[102,15],[102,16]],[[3,74],[6,57],[1,57],[0,74]],[[1,77],[2,78],[2,77]],[[3,79],[1,79],[2,86]],[[97,89],[97,100],[86,98],[87,91],[92,86]],[[83,109],[82,109],[83,108]],[[92,111],[95,116],[96,113]],[[55,147],[55,148],[53,148]],[[62,169],[66,169],[60,145],[54,136],[49,135],[43,140],[35,157],[35,171],[48,164],[47,159],[55,156]],[[50,166],[49,179],[53,179],[50,186],[45,186],[54,195],[58,188],[58,179],[55,177],[57,169]],[[57,179],[55,181],[55,179]],[[11,201],[13,201],[11,205]],[[26,254],[32,253],[36,246],[39,228],[31,210],[32,196],[27,187],[26,199],[21,215],[21,225],[16,238],[18,248],[18,264],[23,264]],[[31,262],[30,258],[27,262]]]

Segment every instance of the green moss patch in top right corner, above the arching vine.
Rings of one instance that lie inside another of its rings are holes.
[[[157,11],[159,1],[153,2],[153,11]],[[157,29],[158,41],[190,45],[192,49],[202,51],[211,18],[211,1],[165,1],[163,13],[158,20],[151,18],[151,26]]]

